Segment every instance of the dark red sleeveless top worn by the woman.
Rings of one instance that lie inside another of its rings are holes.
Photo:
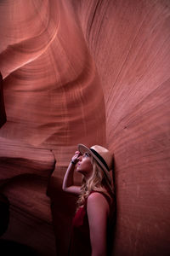
[[[99,193],[105,196],[105,199],[108,201],[111,209],[112,207],[111,207],[110,197],[105,195],[102,192],[99,192]],[[71,242],[69,247],[70,256],[80,256],[80,255],[90,256],[92,253],[91,243],[90,243],[90,231],[89,231],[89,224],[88,224],[87,201],[88,199],[86,199],[84,205],[78,209],[75,217],[72,220]],[[107,236],[111,236],[110,235],[111,226],[112,226],[111,222],[108,219],[108,227],[107,227],[108,235]]]

